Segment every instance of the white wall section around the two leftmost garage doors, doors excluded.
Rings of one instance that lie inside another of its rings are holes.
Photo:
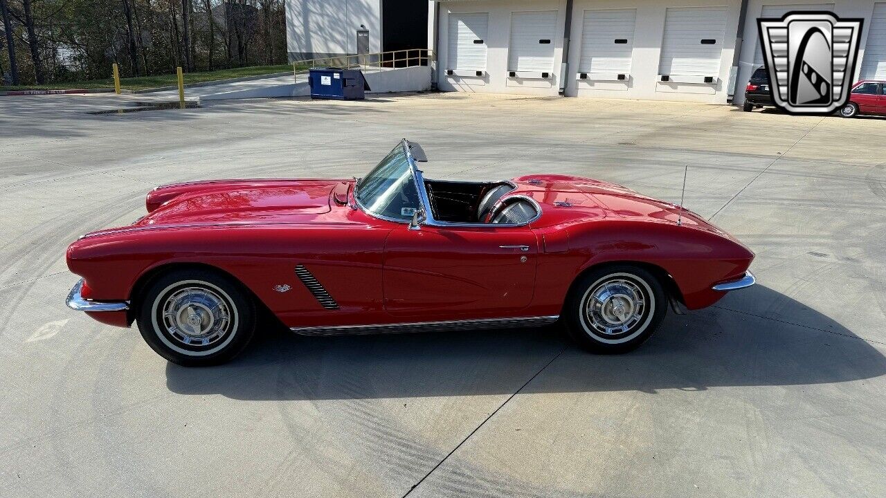
[[[549,79],[509,78],[508,48],[513,12],[557,11],[553,77]],[[460,12],[489,12],[486,35],[486,75],[483,77],[447,76],[449,15]],[[563,22],[565,0],[482,0],[440,2],[437,19],[437,86],[448,91],[557,95],[560,89],[560,62],[563,58]]]

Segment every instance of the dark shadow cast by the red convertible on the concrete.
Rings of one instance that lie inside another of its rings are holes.
[[[828,316],[762,285],[742,292],[755,294],[740,302],[777,300],[779,318],[725,307],[669,314],[647,344],[612,356],[584,353],[555,328],[331,338],[258,331],[229,364],[167,364],[167,386],[281,401],[514,393],[542,369],[524,393],[810,385],[886,374],[881,352]]]

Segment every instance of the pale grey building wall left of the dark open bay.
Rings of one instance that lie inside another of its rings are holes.
[[[357,53],[357,29],[369,29],[369,51],[380,52],[382,0],[286,0],[290,60]]]

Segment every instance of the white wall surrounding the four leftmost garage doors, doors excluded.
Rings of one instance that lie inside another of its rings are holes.
[[[658,64],[664,36],[664,16],[668,6],[727,6],[725,39],[722,43],[718,81],[714,84],[658,82]],[[581,51],[581,31],[586,9],[637,9],[633,38],[631,77],[627,82],[577,82]],[[523,11],[557,10],[554,78],[549,81],[520,81],[507,77],[511,14]],[[437,23],[439,89],[494,93],[556,95],[561,81],[564,95],[571,97],[612,97],[664,100],[688,100],[725,104],[727,84],[733,63],[740,0],[682,0],[679,5],[662,0],[575,0],[571,18],[569,65],[562,74],[563,23],[565,0],[477,0],[440,2]],[[457,12],[489,12],[486,76],[447,76],[447,35],[449,15]]]

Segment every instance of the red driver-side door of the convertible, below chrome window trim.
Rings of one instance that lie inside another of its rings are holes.
[[[419,322],[519,316],[538,255],[526,227],[402,225],[385,241],[385,310]]]

